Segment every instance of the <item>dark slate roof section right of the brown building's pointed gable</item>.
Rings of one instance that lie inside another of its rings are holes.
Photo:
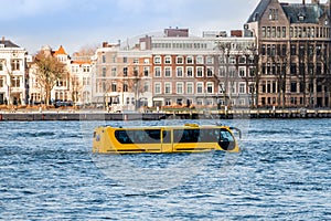
[[[317,23],[324,13],[321,4],[281,4],[290,23]]]

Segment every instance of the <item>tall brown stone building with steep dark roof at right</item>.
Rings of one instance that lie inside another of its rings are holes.
[[[258,104],[331,106],[330,1],[260,0],[245,24],[258,42]]]

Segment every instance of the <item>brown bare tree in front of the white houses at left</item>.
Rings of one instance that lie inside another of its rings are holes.
[[[35,76],[38,83],[45,92],[45,104],[50,105],[51,91],[57,81],[65,77],[65,64],[44,51],[40,51],[34,56],[34,64],[36,65]]]

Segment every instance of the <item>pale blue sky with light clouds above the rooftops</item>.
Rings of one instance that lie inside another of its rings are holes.
[[[298,2],[302,0],[284,0]],[[309,2],[310,0],[306,1]],[[243,29],[259,0],[0,0],[0,34],[35,54],[63,45],[68,54],[167,28]],[[282,2],[282,1],[281,1]],[[323,0],[321,1],[323,2]],[[0,36],[0,38],[1,38]]]

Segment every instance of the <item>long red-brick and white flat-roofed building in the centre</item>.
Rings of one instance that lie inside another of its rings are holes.
[[[166,29],[132,48],[104,43],[95,55],[94,102],[124,109],[253,105],[255,39],[213,33]]]

